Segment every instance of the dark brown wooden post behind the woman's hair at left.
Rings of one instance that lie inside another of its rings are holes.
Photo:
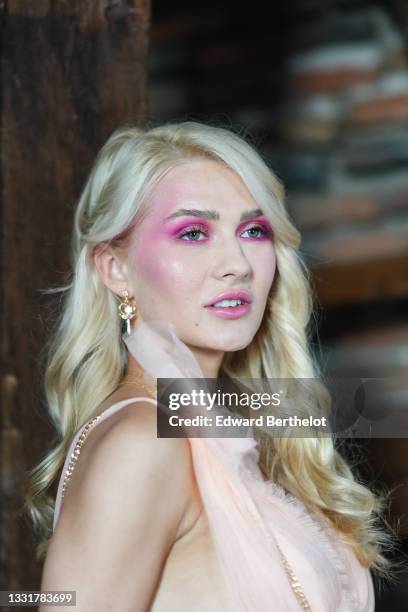
[[[73,207],[97,150],[144,119],[149,19],[148,0],[0,0],[1,590],[39,589],[41,577],[19,512],[24,470],[52,441],[40,290],[66,281]]]

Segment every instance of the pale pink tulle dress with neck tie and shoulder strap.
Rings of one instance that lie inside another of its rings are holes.
[[[151,376],[203,377],[192,352],[167,322],[139,324],[123,339]],[[73,469],[75,446],[84,432],[135,401],[150,402],[152,409],[156,406],[149,397],[117,402],[76,433],[59,482],[54,529]],[[265,481],[253,437],[188,439],[218,564],[232,602],[226,612],[374,610],[370,571],[328,521],[312,515],[281,486]]]

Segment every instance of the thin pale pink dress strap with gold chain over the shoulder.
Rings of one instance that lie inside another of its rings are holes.
[[[106,410],[101,412],[101,414],[98,414],[98,416],[93,417],[92,419],[84,423],[80,427],[80,429],[77,431],[68,449],[67,456],[65,458],[64,467],[62,469],[62,473],[61,473],[61,477],[60,477],[60,481],[58,485],[57,497],[55,500],[55,507],[54,507],[53,531],[55,530],[55,525],[57,524],[57,520],[61,512],[61,506],[62,506],[63,498],[65,495],[65,491],[68,487],[70,478],[74,471],[76,461],[79,457],[81,448],[84,445],[90,431],[96,425],[98,425],[99,423],[102,423],[102,421],[105,421],[112,414],[114,414],[121,408],[124,408],[125,406],[127,406],[127,404],[131,404],[132,402],[141,402],[141,401],[151,402],[152,404],[157,406],[157,401],[151,397],[129,397],[125,400],[121,400],[120,402],[116,402],[115,404],[112,404],[112,406],[109,406],[109,408],[106,408]]]

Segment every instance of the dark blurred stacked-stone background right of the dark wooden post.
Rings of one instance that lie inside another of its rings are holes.
[[[148,75],[148,120],[209,120],[260,148],[302,234],[320,362],[394,377],[406,412],[408,2],[153,0]],[[360,474],[394,488],[406,538],[407,440],[359,442]],[[407,609],[408,575],[377,599]]]

